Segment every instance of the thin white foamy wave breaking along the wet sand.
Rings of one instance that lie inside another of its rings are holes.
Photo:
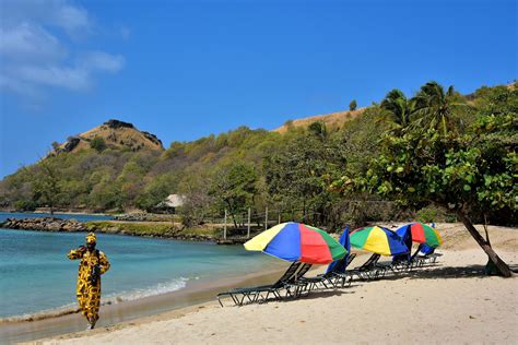
[[[198,279],[198,277],[193,277],[193,279]],[[169,282],[160,283],[149,288],[140,288],[140,289],[133,289],[130,292],[122,292],[117,295],[108,295],[102,298],[101,306],[116,305],[123,301],[136,300],[136,299],[144,298],[144,297],[174,293],[174,292],[185,288],[187,286],[188,281],[189,278],[178,277]],[[38,321],[38,320],[44,320],[44,319],[58,318],[58,317],[62,317],[62,316],[71,314],[71,313],[78,313],[81,310],[79,309],[78,305],[74,302],[74,304],[69,304],[69,305],[61,306],[55,309],[40,310],[34,313],[0,318],[0,324],[22,322],[22,321]]]

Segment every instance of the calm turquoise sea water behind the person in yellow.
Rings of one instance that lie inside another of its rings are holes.
[[[79,261],[67,253],[84,243],[84,236],[0,229],[0,319],[75,306]],[[190,281],[236,276],[278,263],[242,246],[106,234],[98,234],[97,243],[111,263],[103,275],[104,300],[174,292]]]

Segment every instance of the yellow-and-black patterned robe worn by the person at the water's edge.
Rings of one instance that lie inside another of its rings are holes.
[[[92,267],[96,264],[99,265],[101,274],[104,274],[109,270],[109,261],[106,258],[105,253],[98,251],[98,258],[95,252],[84,251],[81,252],[78,249],[72,249],[69,252],[70,260],[81,259],[79,265],[79,275],[78,275],[78,287],[76,296],[79,301],[79,307],[81,312],[86,317],[89,322],[97,321],[101,304],[101,277],[97,279],[97,284],[93,285],[90,282],[90,275],[92,273]]]

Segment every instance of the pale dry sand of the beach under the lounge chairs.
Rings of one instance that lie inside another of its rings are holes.
[[[459,225],[443,228],[439,262],[408,274],[283,302],[225,308],[205,302],[35,344],[516,344],[518,279],[483,275],[486,257],[469,234]],[[516,269],[516,229],[490,231],[497,253]]]

